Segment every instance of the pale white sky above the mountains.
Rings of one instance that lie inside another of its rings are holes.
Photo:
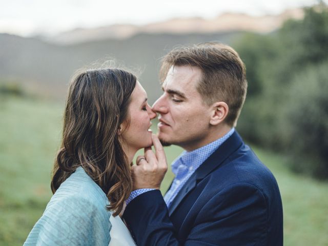
[[[142,25],[175,17],[213,18],[224,12],[278,14],[284,9],[316,3],[316,0],[0,0],[0,33],[52,35],[74,28]]]

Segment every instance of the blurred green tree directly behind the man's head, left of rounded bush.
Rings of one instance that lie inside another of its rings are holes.
[[[271,91],[269,88],[274,77],[272,65],[279,58],[276,35],[245,34],[234,47],[245,63],[248,80],[247,100],[238,121],[238,131],[255,144],[267,144],[263,138],[269,134],[266,128],[271,122],[267,113],[270,106],[263,95]]]

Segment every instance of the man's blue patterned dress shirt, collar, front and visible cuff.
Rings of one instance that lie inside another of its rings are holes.
[[[187,152],[184,151],[180,154],[178,158],[173,161],[171,167],[172,172],[175,175],[173,179],[172,185],[168,192],[164,196],[164,200],[168,206],[170,207],[173,199],[176,197],[182,186],[186,183],[186,181],[191,177],[191,175],[196,171],[196,169],[207,159],[210,157],[214,151],[219,148],[224,141],[226,141],[233,133],[235,129],[232,128],[226,135],[223,137],[211,142],[210,144],[198,148],[196,150]],[[127,204],[132,201],[138,195],[145,193],[147,191],[151,191],[155,189],[139,189],[131,192]]]

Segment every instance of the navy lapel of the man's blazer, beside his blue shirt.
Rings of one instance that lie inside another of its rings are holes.
[[[199,168],[191,175],[185,185],[182,186],[176,197],[173,199],[169,208],[169,215],[177,209],[183,198],[188,195],[197,185],[199,180],[206,177],[213,170],[217,169],[221,163],[226,160],[233,152],[235,152],[243,144],[241,137],[235,131],[223,144],[207,158]]]

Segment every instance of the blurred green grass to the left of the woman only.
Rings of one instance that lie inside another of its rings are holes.
[[[51,197],[62,107],[0,99],[0,245],[22,245]]]

